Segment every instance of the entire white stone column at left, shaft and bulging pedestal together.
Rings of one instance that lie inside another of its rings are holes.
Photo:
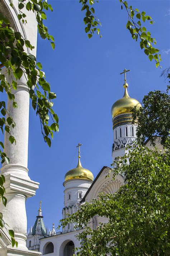
[[[10,78],[9,83],[11,84]],[[9,229],[14,230],[15,239],[18,242],[18,250],[28,250],[26,247],[27,215],[25,200],[35,195],[39,183],[30,180],[27,168],[29,91],[25,77],[22,77],[17,83],[17,90],[12,92],[15,95],[18,108],[13,108],[13,103],[10,100],[8,100],[7,106],[16,123],[16,127],[11,129],[11,133],[16,139],[16,145],[9,142],[9,134],[5,133],[4,152],[9,157],[10,162],[9,164],[5,162],[1,168],[1,174],[5,176],[7,204],[6,207],[2,203],[0,204],[0,212],[3,213],[3,218],[9,225]],[[2,232],[5,232],[5,230],[3,229]],[[8,233],[2,235],[1,239],[3,241],[5,240],[5,235],[8,236]]]

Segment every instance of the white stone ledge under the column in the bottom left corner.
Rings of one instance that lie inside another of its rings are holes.
[[[3,248],[0,248],[0,255],[1,256],[39,256],[41,255],[41,252],[22,250],[22,249],[17,249],[16,247],[13,248],[12,246],[6,246]]]

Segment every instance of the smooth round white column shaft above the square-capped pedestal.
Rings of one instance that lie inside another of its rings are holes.
[[[28,177],[29,92],[26,82],[25,77],[22,77],[18,81],[17,90],[12,89],[18,104],[17,108],[13,108],[13,102],[8,99],[7,109],[16,123],[16,127],[11,128],[16,145],[10,143],[9,134],[5,132],[4,152],[9,157],[10,164],[4,163],[2,168],[2,174],[13,173],[24,178]],[[11,84],[11,79],[9,83]]]

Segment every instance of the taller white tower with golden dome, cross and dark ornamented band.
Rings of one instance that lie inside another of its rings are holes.
[[[127,151],[128,146],[135,145],[137,120],[132,124],[132,108],[141,107],[138,100],[129,96],[127,88],[126,73],[129,72],[126,68],[121,75],[124,74],[124,95],[123,98],[117,100],[112,106],[112,122],[114,131],[114,142],[112,147],[112,158],[123,156]]]

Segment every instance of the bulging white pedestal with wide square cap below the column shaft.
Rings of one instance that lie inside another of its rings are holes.
[[[14,230],[14,238],[18,242],[18,248],[16,248],[16,250],[25,251],[27,250],[27,215],[25,210],[25,200],[35,195],[39,183],[30,179],[28,180],[27,178],[20,178],[12,174],[7,174],[4,176],[5,197],[7,199],[7,204],[5,207],[2,203],[0,203],[0,212],[3,214],[5,223],[8,224],[6,228]],[[5,248],[7,246],[7,248],[9,248],[11,245],[11,239],[8,231],[3,228],[0,233],[0,247]],[[1,255],[2,253],[0,251],[0,256]]]

